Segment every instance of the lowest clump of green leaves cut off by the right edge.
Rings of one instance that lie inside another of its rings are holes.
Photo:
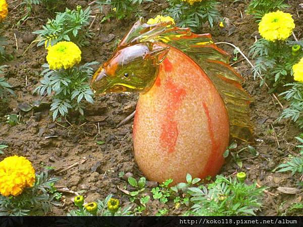
[[[295,137],[301,145],[297,145],[297,148],[301,148],[298,156],[289,156],[286,163],[278,165],[277,172],[288,172],[291,171],[291,174],[295,173],[303,174],[303,139],[300,137]]]

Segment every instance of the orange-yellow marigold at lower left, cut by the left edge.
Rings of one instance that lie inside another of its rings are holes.
[[[17,196],[34,182],[35,169],[25,157],[10,156],[0,162],[0,193],[3,196]]]

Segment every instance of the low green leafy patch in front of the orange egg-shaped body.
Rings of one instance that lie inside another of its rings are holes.
[[[210,181],[211,178],[206,180]],[[264,187],[258,188],[256,183],[247,185],[238,179],[227,179],[223,176],[217,176],[215,182],[206,185],[201,179],[192,179],[190,174],[186,175],[186,183],[179,183],[170,187],[172,179],[166,180],[159,187],[151,189],[153,199],[159,200],[162,204],[171,201],[175,204],[175,209],[183,206],[186,209],[183,215],[199,215],[199,216],[221,216],[221,215],[256,215],[255,212],[262,206],[262,197]],[[122,190],[126,194],[130,193]],[[149,196],[146,194],[136,194],[132,196],[131,201],[136,200],[140,204],[135,208],[134,212],[142,213],[148,209],[146,203]],[[185,207],[184,207],[185,206]],[[168,213],[166,208],[158,210],[157,216]]]

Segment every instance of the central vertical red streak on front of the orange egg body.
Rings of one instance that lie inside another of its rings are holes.
[[[178,138],[178,124],[174,118],[176,111],[182,104],[182,98],[186,95],[186,91],[183,88],[178,88],[171,77],[166,81],[166,89],[168,90],[169,101],[166,106],[166,115],[162,120],[160,143],[165,151],[172,153],[175,151]]]

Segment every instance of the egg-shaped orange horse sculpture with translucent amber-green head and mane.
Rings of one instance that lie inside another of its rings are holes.
[[[94,74],[91,87],[139,92],[134,155],[151,181],[216,175],[229,136],[251,141],[248,94],[210,34],[138,21]]]

